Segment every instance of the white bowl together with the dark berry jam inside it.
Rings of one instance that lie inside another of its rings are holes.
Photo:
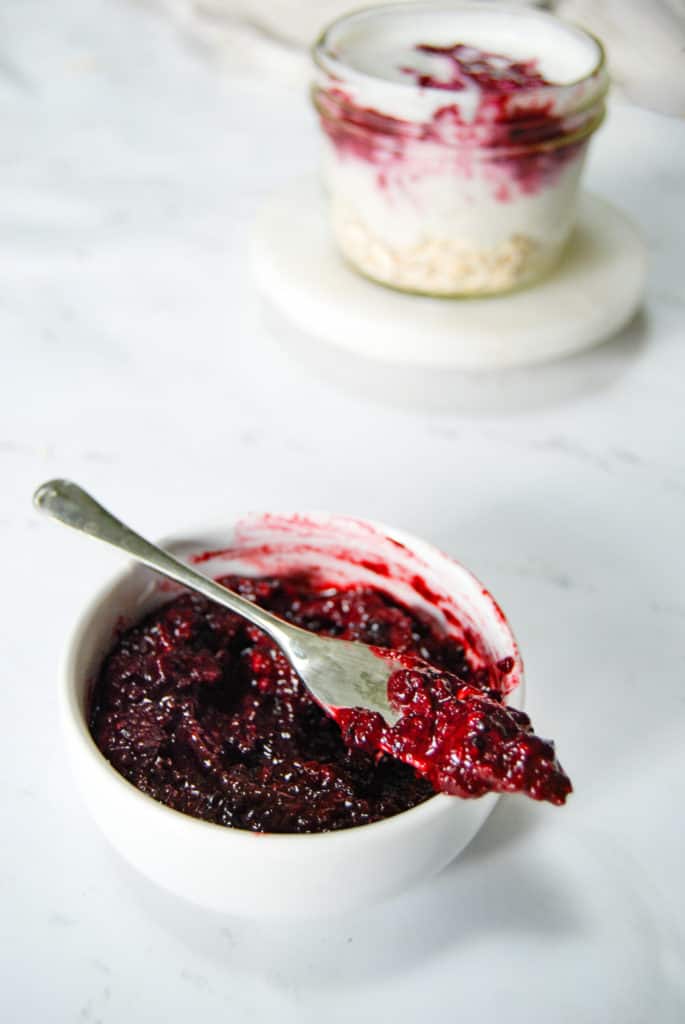
[[[522,665],[501,609],[410,535],[261,515],[165,546],[307,628],[404,649],[499,690],[503,711],[509,699],[521,707]],[[250,915],[351,910],[452,860],[497,794],[436,794],[410,765],[365,752],[259,631],[233,618],[141,566],[84,612],[63,720],[77,780],[113,845],[167,889]]]

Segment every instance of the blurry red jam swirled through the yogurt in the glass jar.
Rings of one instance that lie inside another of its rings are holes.
[[[412,76],[420,89],[457,94],[467,88],[477,90],[472,120],[463,117],[459,101],[439,108],[427,123],[418,125],[358,106],[340,86],[317,96],[322,126],[338,155],[376,166],[380,187],[388,187],[393,169],[395,175],[401,174],[408,151],[416,141],[452,147],[455,173],[467,176],[472,173],[470,161],[485,158],[493,196],[501,203],[512,200],[516,190],[534,195],[553,184],[561,169],[581,153],[584,142],[563,144],[564,121],[544,93],[554,83],[537,70],[536,60],[512,60],[462,43],[421,43],[416,50],[448,61],[449,77],[438,78],[410,67],[400,71]],[[444,169],[444,158],[436,158],[435,170],[443,173]],[[430,173],[425,160],[421,173]]]

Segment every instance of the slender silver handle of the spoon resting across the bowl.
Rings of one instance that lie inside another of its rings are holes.
[[[246,600],[240,594],[234,594],[226,587],[209,580],[167,551],[151,544],[144,537],[140,537],[98,505],[94,498],[71,480],[49,480],[47,483],[42,483],[34,495],[34,505],[65,525],[119,548],[137,562],[142,562],[143,565],[183,587],[198,591],[210,601],[216,601],[230,608],[255,626],[259,626],[277,643],[287,643],[290,634],[296,630],[296,627]]]

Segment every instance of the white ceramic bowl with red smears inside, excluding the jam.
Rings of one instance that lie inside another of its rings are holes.
[[[184,558],[213,552],[202,564],[212,575],[317,565],[332,580],[391,589],[443,622],[458,613],[461,625],[453,622],[449,629],[480,638],[476,658],[514,658],[507,678],[521,706],[522,666],[496,602],[462,565],[403,531],[326,514],[252,516],[164,543]],[[440,870],[473,839],[495,806],[494,795],[436,796],[374,824],[284,836],[201,821],[136,790],[95,746],[87,723],[90,691],[122,621],[136,622],[177,590],[141,566],[127,569],[88,604],[65,662],[61,710],[76,778],[95,821],[126,860],[164,888],[214,910],[317,916],[398,894]]]

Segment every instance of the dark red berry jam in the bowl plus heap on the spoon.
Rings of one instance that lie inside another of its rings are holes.
[[[220,582],[304,629],[399,652],[408,668],[389,697],[402,716],[392,728],[358,710],[334,721],[264,633],[183,594],[123,633],[93,692],[95,742],[143,793],[222,825],[315,833],[390,817],[436,790],[553,803],[570,792],[552,744],[432,621],[370,587]]]

